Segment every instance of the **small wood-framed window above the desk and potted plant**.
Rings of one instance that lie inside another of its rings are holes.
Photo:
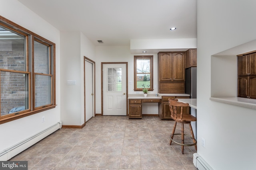
[[[153,91],[153,56],[134,56],[134,91]]]

